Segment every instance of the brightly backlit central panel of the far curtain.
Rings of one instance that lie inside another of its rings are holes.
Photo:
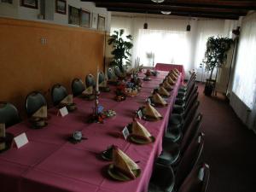
[[[148,58],[148,54],[154,58]],[[138,34],[137,55],[143,66],[151,67],[154,63],[189,62],[189,41],[186,32],[140,29]]]

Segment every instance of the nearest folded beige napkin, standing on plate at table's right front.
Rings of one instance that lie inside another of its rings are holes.
[[[116,146],[113,147],[113,166],[131,179],[136,178],[136,175],[132,171],[139,169],[139,166]]]

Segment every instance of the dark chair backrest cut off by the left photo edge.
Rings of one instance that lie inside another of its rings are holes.
[[[0,102],[0,123],[5,128],[20,122],[20,114],[15,106],[9,102]]]

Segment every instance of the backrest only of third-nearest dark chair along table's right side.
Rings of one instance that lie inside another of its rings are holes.
[[[183,135],[183,140],[180,145],[181,154],[183,154],[186,149],[189,147],[189,144],[192,143],[194,138],[198,135],[198,131],[201,127],[202,114],[199,113],[189,125],[186,133]]]

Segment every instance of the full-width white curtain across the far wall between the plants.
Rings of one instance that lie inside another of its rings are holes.
[[[148,29],[143,29],[143,24],[148,23]],[[124,28],[125,34],[131,34],[134,38],[132,49],[132,61],[140,57],[144,66],[152,67],[152,58],[148,53],[154,53],[154,64],[175,63],[183,64],[185,71],[192,69],[204,73],[199,67],[206,50],[207,38],[214,36],[228,37],[231,20],[183,20],[166,18],[141,18],[113,16],[111,32]],[[190,24],[191,31],[186,32],[186,26]],[[205,77],[203,78],[205,79]]]

